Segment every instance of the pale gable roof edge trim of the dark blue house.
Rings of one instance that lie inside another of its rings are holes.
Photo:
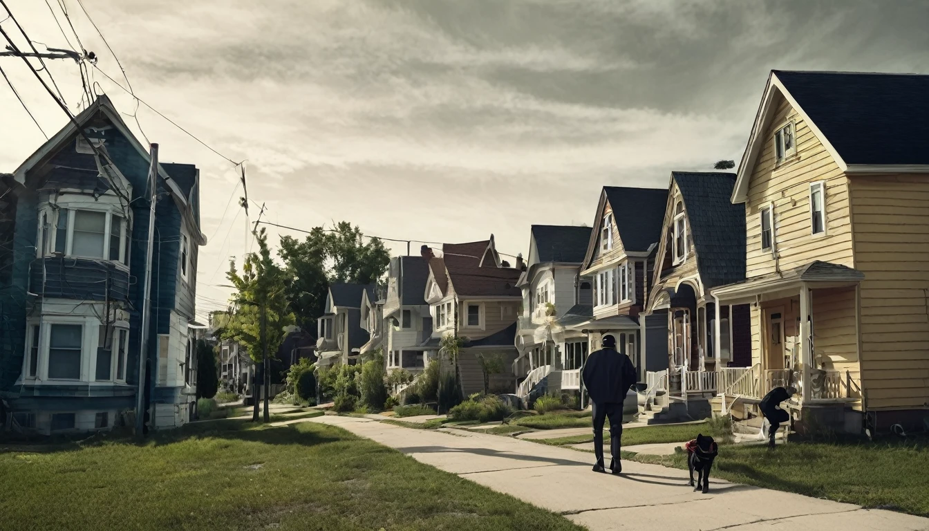
[[[132,131],[128,126],[125,125],[122,116],[113,106],[110,98],[106,95],[98,96],[93,103],[91,103],[83,112],[79,113],[74,117],[74,121],[77,122],[80,126],[85,126],[88,122],[93,120],[97,113],[103,113],[111,124],[116,127],[116,129],[122,133],[125,139],[129,141],[129,144],[132,145],[137,153],[145,160],[146,163],[150,163],[150,154],[149,151],[142,146],[141,142],[138,141],[135,135],[132,134]],[[38,150],[29,156],[20,167],[16,168],[14,176],[20,184],[26,182],[26,173],[33,169],[33,167],[41,163],[49,153],[52,153],[58,150],[64,142],[71,141],[74,135],[78,134],[77,127],[74,126],[72,121],[68,121],[68,124],[62,127],[58,133],[55,134],[51,139],[48,139],[46,143],[42,144]],[[196,219],[196,216],[189,206],[188,196],[181,190],[178,186],[177,180],[172,179],[171,175],[165,170],[164,165],[159,163],[158,165],[158,175],[164,179],[164,186],[167,188],[168,192],[171,193],[172,199],[174,199],[177,204],[178,209],[181,211],[182,216],[190,216],[191,225],[198,228],[196,234],[192,234],[192,237],[197,242],[198,245],[206,245],[206,236],[203,232],[200,232],[199,227],[200,223]]]

